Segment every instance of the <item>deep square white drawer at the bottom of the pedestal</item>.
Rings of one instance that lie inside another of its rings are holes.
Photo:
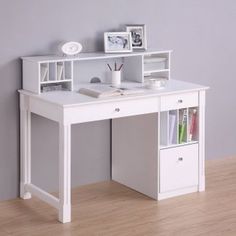
[[[160,151],[160,192],[198,185],[198,144]]]

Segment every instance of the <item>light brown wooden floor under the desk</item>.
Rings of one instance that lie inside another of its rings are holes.
[[[236,235],[236,158],[207,162],[207,191],[156,202],[115,182],[73,191],[73,222],[31,200],[0,203],[0,236]]]

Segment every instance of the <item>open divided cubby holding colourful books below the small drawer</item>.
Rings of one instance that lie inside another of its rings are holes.
[[[198,142],[198,123],[197,107],[161,112],[161,148]]]

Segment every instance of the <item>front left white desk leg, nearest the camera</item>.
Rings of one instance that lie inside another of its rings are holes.
[[[71,125],[59,126],[59,221],[71,221]]]

